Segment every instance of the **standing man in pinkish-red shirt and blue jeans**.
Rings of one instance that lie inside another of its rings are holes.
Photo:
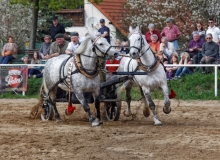
[[[178,39],[180,34],[179,28],[173,24],[170,18],[167,18],[166,27],[162,30],[161,35],[165,36],[169,42],[172,42],[176,50],[179,50]]]

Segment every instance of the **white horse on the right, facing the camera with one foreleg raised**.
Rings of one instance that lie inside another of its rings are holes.
[[[141,34],[140,28],[129,28],[130,31],[130,56],[133,58],[124,57],[120,62],[118,68],[123,72],[147,72],[147,75],[134,75],[132,80],[124,83],[126,91],[127,109],[124,111],[125,116],[131,116],[130,102],[131,102],[131,87],[135,82],[141,89],[141,94],[144,98],[145,107],[143,114],[145,117],[150,115],[149,108],[153,113],[154,125],[160,126],[162,123],[158,119],[155,111],[155,103],[151,98],[150,92],[155,88],[162,90],[164,95],[164,107],[163,111],[166,114],[171,112],[170,100],[168,96],[167,79],[164,71],[164,67],[160,64],[158,58],[154,55],[150,49],[150,45],[147,43],[145,37]],[[149,107],[148,107],[149,106]]]

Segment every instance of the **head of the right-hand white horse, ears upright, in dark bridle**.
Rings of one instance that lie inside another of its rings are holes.
[[[136,28],[129,27],[129,41],[130,41],[130,56],[134,59],[140,57],[139,53],[141,52],[143,46],[145,45],[145,37],[141,33],[140,26]]]

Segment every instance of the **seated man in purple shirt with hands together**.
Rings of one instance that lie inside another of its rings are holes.
[[[202,45],[204,41],[199,36],[199,32],[195,32],[193,39],[189,42],[187,51],[190,55],[190,58],[193,59],[193,64],[199,64],[198,53],[202,51]]]

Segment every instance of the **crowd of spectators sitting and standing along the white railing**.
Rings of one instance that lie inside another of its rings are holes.
[[[190,35],[188,47],[180,54],[178,40],[181,32],[171,18],[165,21],[165,27],[160,32],[153,23],[148,25],[148,31],[145,34],[146,41],[150,44],[151,50],[157,55],[163,64],[175,64],[173,67],[166,67],[167,79],[179,79],[186,74],[192,74],[196,67],[178,67],[177,64],[212,64],[219,57],[220,29],[215,26],[213,19],[208,20],[208,28],[205,31],[200,22],[195,24],[195,29]],[[110,43],[110,29],[105,25],[105,20],[100,19],[101,36]],[[65,40],[65,28],[59,23],[58,17],[52,18],[50,35],[44,36],[44,42],[41,44],[39,52],[35,52],[31,59],[31,64],[45,63],[49,58],[59,56],[60,54],[74,54],[77,47],[83,41],[77,32],[72,32],[71,41]],[[115,48],[119,52],[118,57],[110,57],[106,64],[119,64],[124,55],[129,53],[129,44],[127,41],[116,39]],[[8,37],[2,49],[0,64],[7,64],[17,58],[18,47],[12,36]],[[23,58],[25,64],[28,63],[28,56]],[[202,73],[211,73],[210,67],[201,67]],[[109,73],[106,79],[111,78],[111,73],[117,70],[117,67],[106,67]],[[42,67],[31,67],[28,71],[29,77],[42,77]]]

